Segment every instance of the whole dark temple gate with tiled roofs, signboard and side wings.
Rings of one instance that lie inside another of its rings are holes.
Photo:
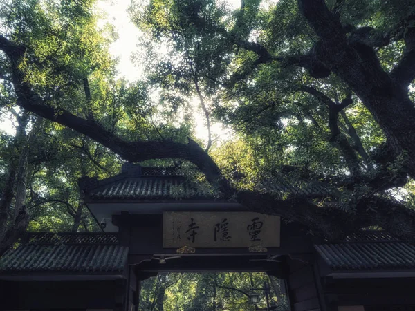
[[[149,276],[213,271],[277,276],[293,311],[415,310],[415,246],[387,232],[328,243],[169,167],[124,164],[80,187],[102,232],[28,232],[0,258],[0,310],[138,310]]]

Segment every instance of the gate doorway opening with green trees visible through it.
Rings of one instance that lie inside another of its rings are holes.
[[[163,272],[141,282],[138,310],[288,311],[285,281],[265,272]]]

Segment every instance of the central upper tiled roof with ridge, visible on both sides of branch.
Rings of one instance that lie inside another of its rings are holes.
[[[81,178],[79,184],[86,198],[93,200],[175,200],[214,197],[210,187],[186,180],[176,167],[141,167],[139,164],[124,163],[121,173],[116,176],[104,180]],[[259,182],[256,190],[303,197],[335,193],[335,189],[325,182],[299,180],[288,175]]]

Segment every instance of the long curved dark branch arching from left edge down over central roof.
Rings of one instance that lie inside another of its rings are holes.
[[[15,45],[3,38],[3,41],[5,40],[6,44],[0,45],[0,49],[6,48],[7,53],[10,53],[9,57],[13,59],[12,82],[15,86],[18,106],[92,138],[129,162],[162,158],[181,158],[193,162],[205,173],[206,178],[214,187],[219,187],[225,194],[230,195],[232,189],[221,175],[219,167],[193,140],[189,139],[187,144],[173,141],[131,142],[111,133],[98,122],[78,117],[66,109],[60,109],[45,102],[24,81],[23,73],[18,68],[19,59],[15,59],[13,54]],[[0,40],[0,44],[3,41]],[[16,49],[20,50],[20,48]]]

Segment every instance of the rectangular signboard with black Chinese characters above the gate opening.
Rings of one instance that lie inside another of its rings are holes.
[[[251,212],[163,213],[163,247],[279,247],[279,216]]]

